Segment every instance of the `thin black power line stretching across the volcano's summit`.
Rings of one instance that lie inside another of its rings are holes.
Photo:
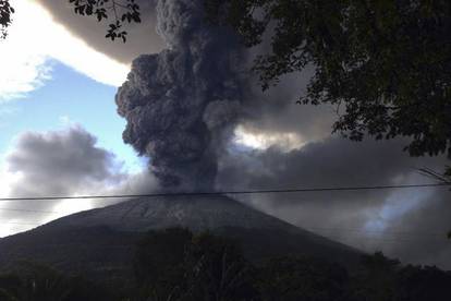
[[[210,192],[161,192],[148,194],[113,194],[113,195],[78,195],[78,196],[24,196],[0,197],[0,202],[15,201],[57,201],[57,200],[89,200],[89,198],[133,198],[133,197],[159,197],[159,196],[208,196],[222,194],[268,194],[268,193],[301,193],[301,192],[327,192],[327,191],[363,191],[363,190],[391,190],[413,188],[451,186],[451,182],[405,184],[405,185],[377,185],[377,186],[336,186],[336,188],[298,188],[279,190],[241,190],[241,191],[210,191]]]

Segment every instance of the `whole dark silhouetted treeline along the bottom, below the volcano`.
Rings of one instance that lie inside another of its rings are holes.
[[[436,267],[401,265],[381,253],[363,256],[352,270],[304,256],[256,264],[233,240],[180,228],[148,232],[133,272],[126,285],[100,285],[21,263],[0,276],[0,301],[451,300],[451,273]]]

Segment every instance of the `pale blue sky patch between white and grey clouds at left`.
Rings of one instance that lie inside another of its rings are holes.
[[[130,171],[141,159],[122,142],[125,121],[115,112],[117,87],[98,83],[61,62],[51,60],[51,79],[16,100],[0,104],[0,153],[14,145],[24,131],[51,131],[80,124],[103,147],[124,161]]]

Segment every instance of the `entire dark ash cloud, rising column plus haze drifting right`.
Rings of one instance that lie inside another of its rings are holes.
[[[224,190],[404,184],[429,182],[416,168],[442,170],[446,164],[441,157],[409,157],[401,152],[405,140],[353,143],[330,136],[334,108],[295,105],[310,70],[285,76],[266,93],[255,79],[247,85],[241,76],[248,74],[235,70],[249,64],[241,56],[252,59],[267,51],[268,44],[246,53],[233,43],[228,48],[229,35],[199,27],[199,1],[158,1],[162,38],[155,31],[157,1],[145,1],[148,21],[132,28],[124,46],[106,40],[105,27],[73,15],[64,1],[40,2],[89,45],[124,62],[169,45],[135,61],[117,98],[129,121],[125,141],[148,155],[156,173],[169,183],[178,179],[188,189],[205,189],[218,174],[216,185]],[[276,143],[242,152],[231,142],[236,125],[255,135],[293,133],[305,146]],[[258,195],[243,202],[367,251],[451,268],[444,239],[451,229],[449,195],[447,190],[418,189]]]

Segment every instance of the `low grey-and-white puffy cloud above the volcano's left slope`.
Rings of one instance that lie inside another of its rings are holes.
[[[99,147],[97,139],[77,124],[21,133],[11,148],[0,154],[0,197],[137,194],[157,184],[147,169],[135,173],[124,170],[113,153]],[[0,202],[0,238],[120,201]]]

